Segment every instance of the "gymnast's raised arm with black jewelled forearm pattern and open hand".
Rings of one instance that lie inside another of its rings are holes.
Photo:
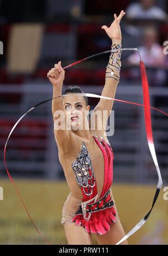
[[[125,15],[124,11],[120,12],[120,15],[117,17],[114,14],[114,21],[110,27],[102,26],[101,28],[106,31],[109,38],[112,40],[111,42],[111,50],[115,50],[115,52],[111,51],[109,57],[109,63],[106,67],[105,73],[105,86],[102,90],[101,96],[111,97],[114,99],[116,87],[119,83],[120,78],[120,67],[121,67],[121,47],[122,47],[122,32],[120,30],[120,20]],[[100,110],[101,118],[103,118],[103,123],[106,124],[110,111],[113,108],[114,100],[108,99],[100,99],[99,103],[96,105],[94,112]],[[103,115],[103,110],[107,110],[108,114]],[[98,111],[99,113],[99,111]],[[99,119],[99,118],[98,118]]]

